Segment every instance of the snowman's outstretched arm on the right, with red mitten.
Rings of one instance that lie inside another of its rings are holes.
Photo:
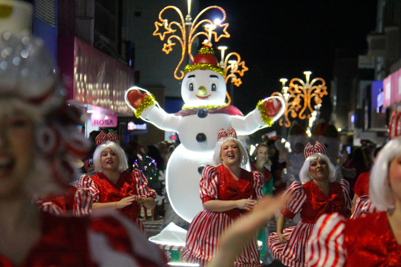
[[[250,135],[260,128],[269,127],[284,112],[285,102],[272,96],[259,101],[256,108],[246,116],[232,116],[231,125],[238,135]]]

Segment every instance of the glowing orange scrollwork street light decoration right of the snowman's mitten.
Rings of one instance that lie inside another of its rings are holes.
[[[284,110],[284,118],[285,124],[284,126],[290,127],[291,121],[288,118],[290,115],[292,118],[296,118],[297,116],[300,119],[305,119],[306,117],[310,118],[314,109],[312,105],[321,105],[322,97],[327,95],[327,86],[326,82],[322,78],[314,78],[311,82],[309,82],[310,74],[312,72],[305,71],[306,82],[299,78],[293,78],[290,81],[289,87],[285,86],[287,79],[280,79],[283,84],[282,93],[274,92],[273,95],[278,95],[284,98],[285,100],[285,110]],[[312,100],[314,104],[311,103]],[[308,114],[305,114],[305,113]],[[284,118],[279,120],[279,124],[283,126]]]

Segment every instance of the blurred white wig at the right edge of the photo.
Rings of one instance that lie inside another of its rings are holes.
[[[401,157],[401,137],[390,140],[379,152],[369,178],[369,195],[377,210],[394,208],[392,189],[388,183],[391,160]]]

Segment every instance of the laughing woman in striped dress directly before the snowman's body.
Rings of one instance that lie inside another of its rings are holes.
[[[200,197],[204,209],[192,220],[186,235],[182,258],[204,266],[216,254],[222,231],[247,211],[255,208],[262,197],[263,176],[240,166],[247,163],[244,146],[237,140],[233,128],[219,131],[214,164],[208,165],[200,179]],[[233,266],[259,266],[260,256],[256,235],[241,251]]]

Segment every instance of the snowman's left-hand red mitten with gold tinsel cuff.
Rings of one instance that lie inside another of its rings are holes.
[[[139,89],[129,89],[126,91],[125,99],[137,118],[139,118],[143,110],[156,103],[152,94],[147,92],[142,93]]]

